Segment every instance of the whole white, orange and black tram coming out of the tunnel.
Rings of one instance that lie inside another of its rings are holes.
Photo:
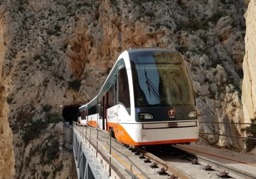
[[[127,145],[197,141],[199,122],[182,55],[166,49],[121,53],[97,96],[79,108],[80,123]]]

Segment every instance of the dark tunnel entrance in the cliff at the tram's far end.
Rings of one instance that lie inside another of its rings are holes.
[[[72,121],[78,121],[78,108],[76,105],[66,105],[63,108],[62,116],[66,122],[69,122],[69,125],[72,125]]]

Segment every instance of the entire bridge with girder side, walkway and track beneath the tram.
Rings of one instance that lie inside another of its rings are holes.
[[[256,178],[256,157],[200,145],[137,147],[73,122],[78,178]]]

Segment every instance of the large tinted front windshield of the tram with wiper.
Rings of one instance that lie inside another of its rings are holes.
[[[194,105],[182,56],[174,52],[130,52],[135,108]]]

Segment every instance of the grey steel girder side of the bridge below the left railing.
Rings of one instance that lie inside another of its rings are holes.
[[[97,130],[97,137],[91,135],[91,130]],[[99,141],[98,132],[99,129],[73,122],[73,151],[78,178],[137,178],[132,170],[127,170],[123,163],[110,154],[111,138],[110,147],[107,148]]]

